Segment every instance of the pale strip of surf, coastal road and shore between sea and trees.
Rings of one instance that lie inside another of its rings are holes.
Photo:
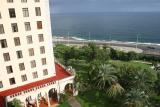
[[[106,41],[106,40],[87,40],[83,38],[77,38],[77,37],[56,37],[53,36],[53,43],[54,44],[68,44],[68,45],[86,45],[88,43],[95,43],[97,45],[112,45],[119,48],[125,48],[129,50],[130,48],[140,49],[143,50],[144,54],[147,55],[155,55],[160,56],[160,44],[156,43],[136,43],[136,42],[123,42],[123,41]],[[129,48],[130,47],[130,48]],[[140,53],[140,52],[139,52]]]

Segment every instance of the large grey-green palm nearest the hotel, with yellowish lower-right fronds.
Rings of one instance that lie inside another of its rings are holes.
[[[118,83],[115,73],[115,69],[110,64],[104,64],[99,67],[99,72],[95,78],[96,86],[99,89],[104,89],[110,97],[114,97],[124,91],[123,87]]]

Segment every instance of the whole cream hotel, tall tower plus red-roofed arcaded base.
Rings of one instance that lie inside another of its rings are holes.
[[[0,59],[2,107],[50,107],[73,91],[74,74],[54,62],[49,0],[0,0]]]

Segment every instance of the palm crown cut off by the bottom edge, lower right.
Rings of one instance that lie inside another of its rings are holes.
[[[139,89],[126,93],[125,107],[149,107],[148,95]]]

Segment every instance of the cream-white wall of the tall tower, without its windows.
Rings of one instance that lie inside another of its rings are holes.
[[[5,34],[0,34],[0,39],[7,39],[8,48],[0,47],[0,81],[3,82],[3,88],[0,91],[6,89],[18,87],[33,81],[45,79],[55,75],[55,65],[53,57],[52,48],[52,34],[51,34],[51,24],[50,24],[50,12],[49,12],[49,0],[40,0],[40,3],[35,3],[34,0],[27,0],[27,3],[21,3],[21,0],[14,0],[14,3],[7,3],[7,0],[0,0],[0,12],[2,19],[0,19],[0,24],[3,24]],[[42,16],[35,15],[35,7],[41,7]],[[16,18],[10,18],[8,8],[15,8]],[[22,8],[29,9],[29,17],[23,17]],[[42,21],[43,29],[37,30],[36,21]],[[31,31],[25,31],[24,22],[30,22]],[[18,32],[13,33],[11,29],[11,23],[18,24]],[[44,34],[44,42],[39,43],[38,34]],[[26,36],[32,35],[33,44],[27,44]],[[14,37],[20,37],[21,46],[14,45]],[[46,54],[41,55],[39,51],[40,46],[45,46]],[[35,56],[29,57],[28,49],[34,48]],[[17,59],[16,50],[22,50],[23,58]],[[10,59],[9,62],[4,62],[3,53],[9,52]],[[41,58],[47,58],[47,65],[41,65]],[[36,60],[36,68],[30,67],[30,61]],[[25,71],[19,70],[19,63],[24,62]],[[13,73],[7,74],[6,66],[12,65]],[[49,75],[43,76],[43,69],[47,68]],[[38,72],[38,79],[33,79],[32,72]],[[22,82],[21,75],[27,74],[28,81]],[[15,77],[16,84],[10,85],[9,78]]]

